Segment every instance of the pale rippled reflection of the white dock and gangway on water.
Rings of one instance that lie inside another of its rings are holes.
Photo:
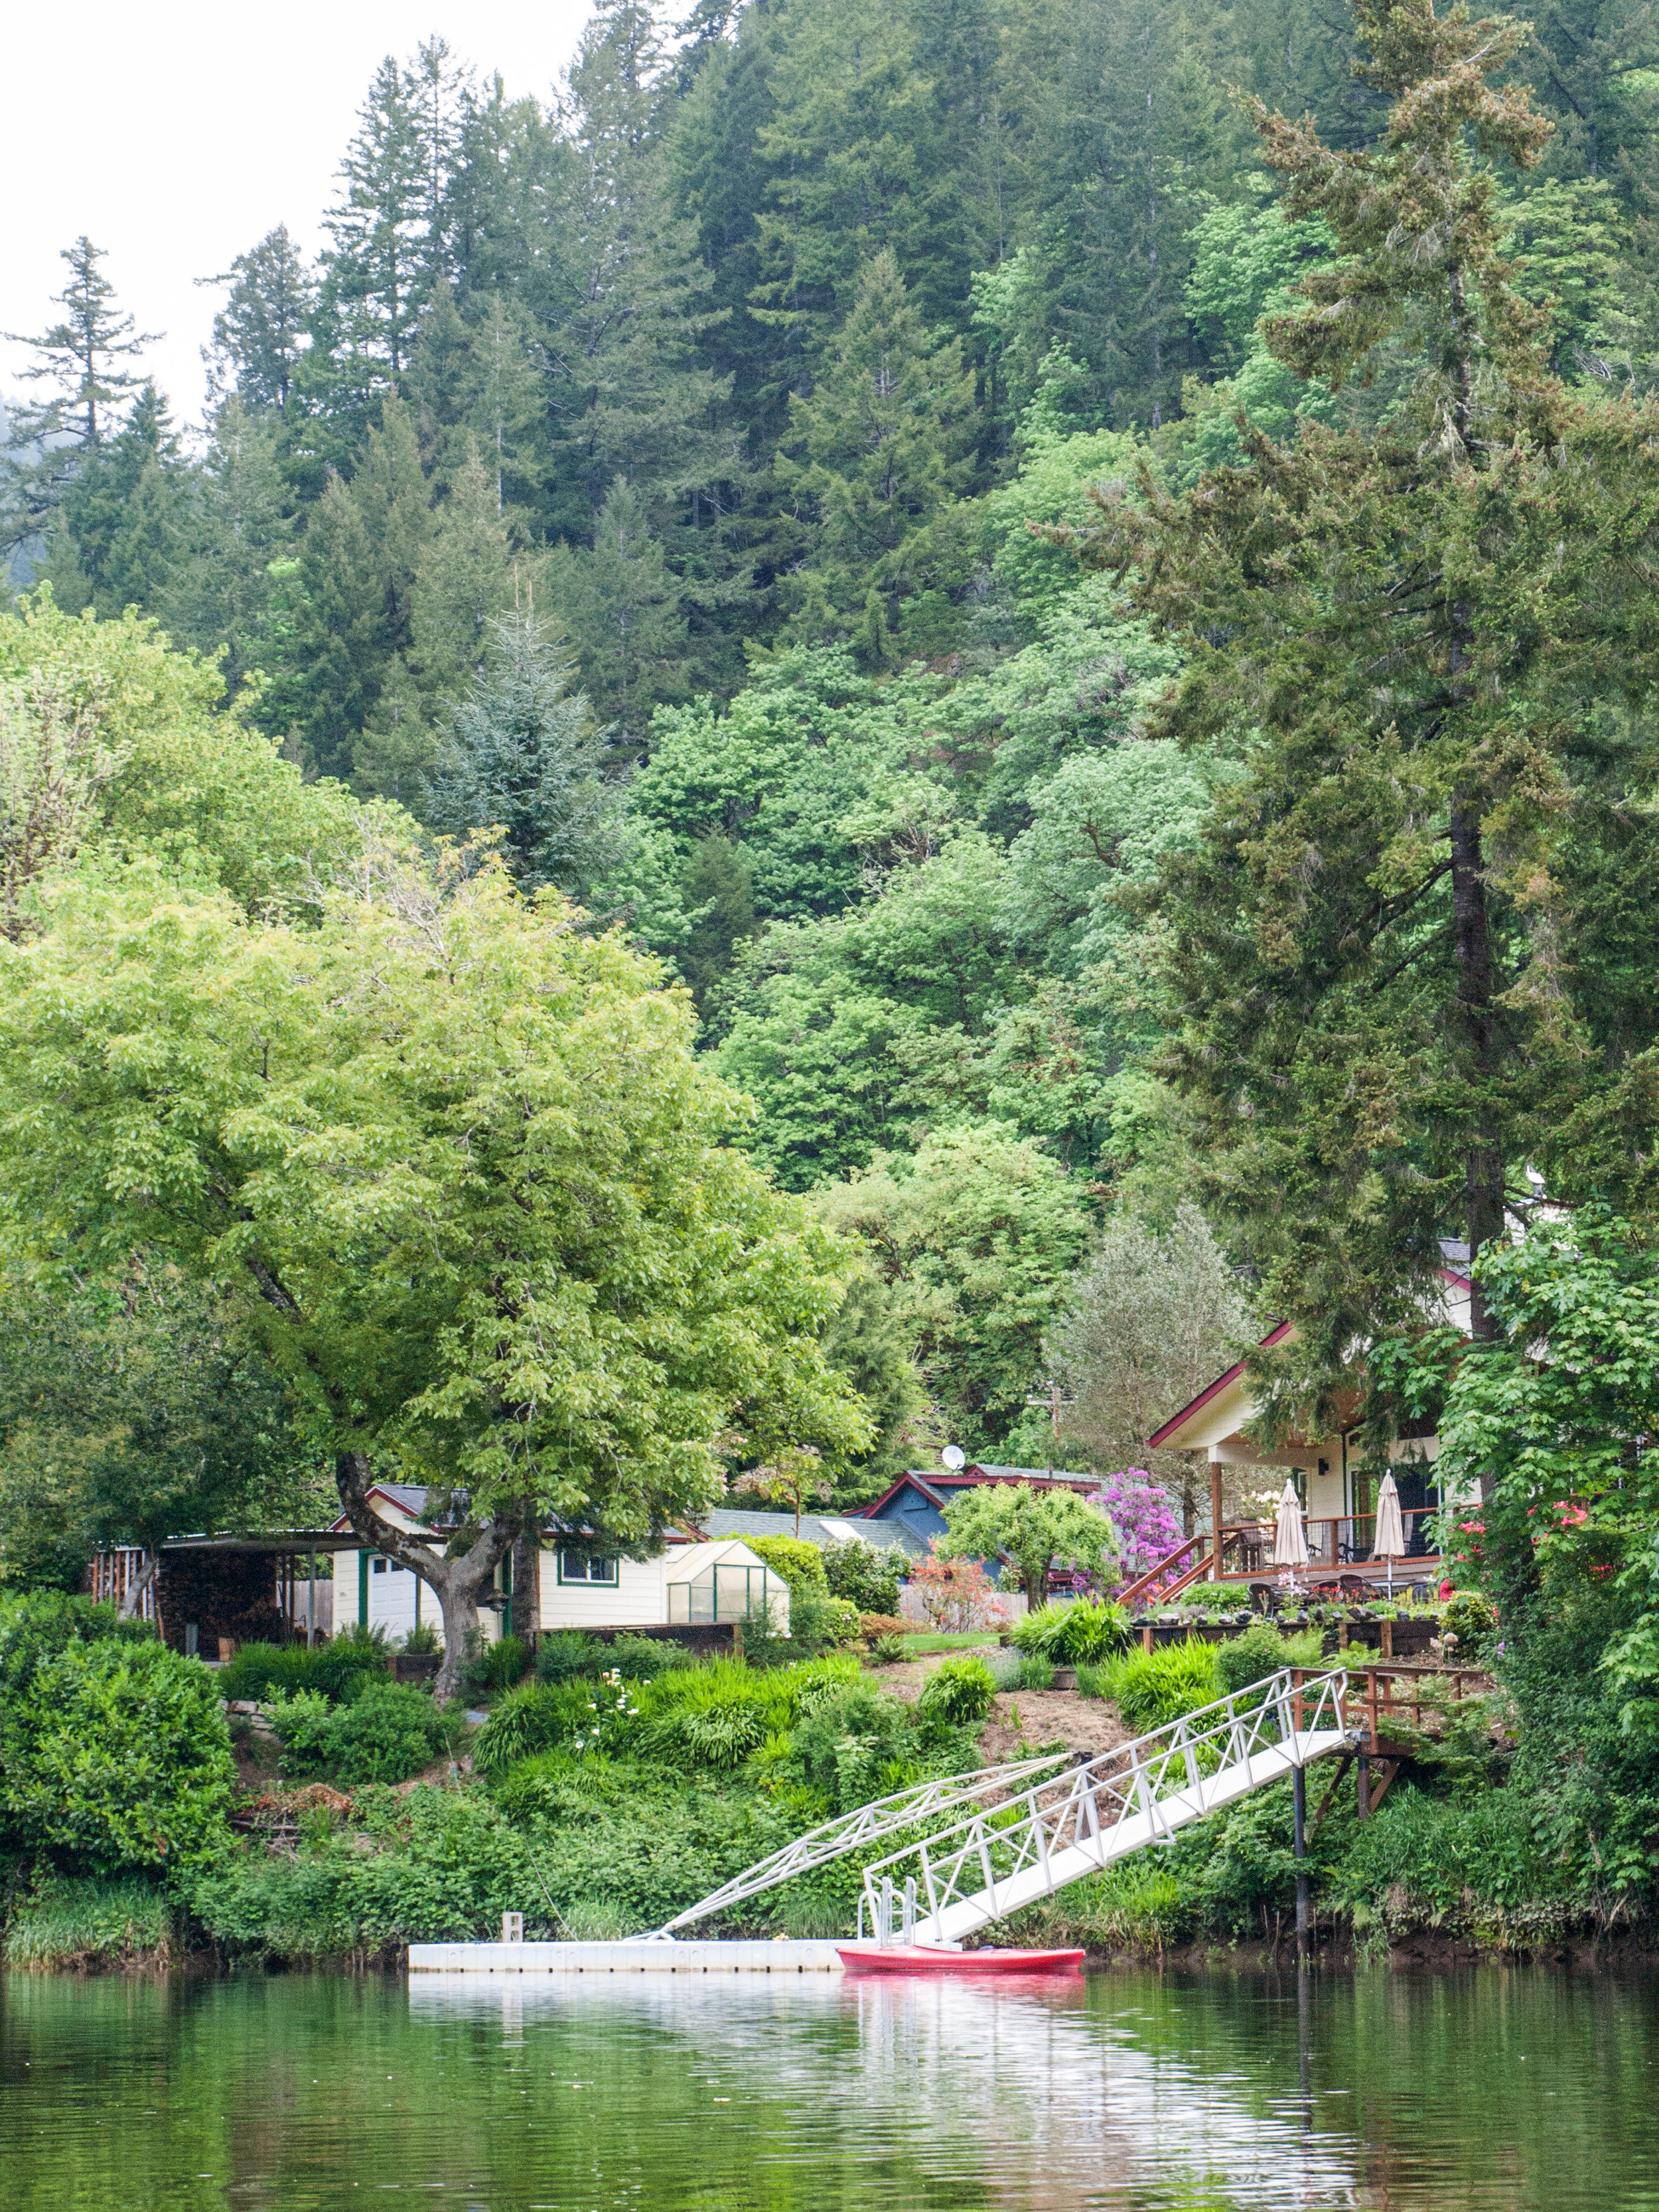
[[[1314,2135],[1305,2093],[1274,2095],[1272,2073],[1208,2073],[1144,2048],[1135,2015],[1115,2017],[1115,1986],[434,1975],[411,1980],[409,2008],[489,2020],[502,2048],[529,2046],[538,2026],[606,2022],[619,2042],[648,2028],[664,2046],[719,2051],[759,2115],[832,2108],[843,2143],[905,2143],[929,2188],[982,2192],[949,2201],[1009,2212],[1360,2203],[1356,2146]]]

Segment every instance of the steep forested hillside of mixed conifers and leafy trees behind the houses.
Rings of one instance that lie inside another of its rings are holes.
[[[1053,1455],[1029,1398],[1102,1285],[1133,1374],[1082,1378],[1073,1436],[1128,1451],[1267,1267],[1248,1192],[1214,1217],[1245,1292],[1186,1203],[1144,896],[1254,708],[1148,726],[1186,617],[1091,491],[1407,405],[1407,347],[1298,374],[1261,327],[1338,252],[1248,100],[1363,148],[1356,51],[1307,0],[602,0],[546,104],[431,42],[369,84],[323,254],[279,226],[219,279],[199,438],[88,239],[13,398],[7,542],[60,611],[217,655],[217,710],[307,779],[495,830],[684,978],[757,1157],[869,1248],[832,1323],[883,1427],[852,1489],[945,1433]],[[1511,77],[1555,126],[1486,148],[1548,374],[1644,394],[1659,24],[1542,7]]]

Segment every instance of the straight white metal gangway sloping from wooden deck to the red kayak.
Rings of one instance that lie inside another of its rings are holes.
[[[914,1838],[865,1867],[858,1936],[869,1911],[887,1940],[898,1867],[907,1869],[905,1891],[916,1898],[916,1942],[953,1947],[1115,1858],[1172,1843],[1177,1829],[1221,1805],[1352,1747],[1345,1697],[1347,1668],[1325,1674],[1281,1668],[1267,1681],[1035,1781],[993,1809],[980,1807]],[[1206,1752],[1221,1754],[1208,1774]]]

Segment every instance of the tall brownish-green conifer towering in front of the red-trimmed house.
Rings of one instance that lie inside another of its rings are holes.
[[[1531,1170],[1639,1181],[1657,1119],[1652,752],[1617,695],[1659,646],[1659,422],[1564,392],[1500,252],[1491,164],[1548,139],[1502,82],[1524,31],[1433,0],[1356,22],[1374,150],[1254,111],[1287,212],[1338,241],[1263,334],[1338,387],[1387,358],[1396,405],[1294,449],[1252,431],[1093,549],[1186,639],[1152,728],[1245,754],[1166,872],[1170,1066],[1310,1387],[1438,1294],[1442,1237],[1502,1237]]]

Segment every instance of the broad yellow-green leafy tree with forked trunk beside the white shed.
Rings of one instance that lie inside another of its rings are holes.
[[[42,1281],[146,1250],[285,1378],[363,1540],[445,1617],[447,1694],[526,1513],[648,1553],[745,1405],[858,1449],[830,1234],[730,1137],[690,1006],[495,867],[369,845],[307,927],[137,869],[62,889],[0,1033],[4,1230]],[[453,1555],[378,1469],[467,1500]]]

